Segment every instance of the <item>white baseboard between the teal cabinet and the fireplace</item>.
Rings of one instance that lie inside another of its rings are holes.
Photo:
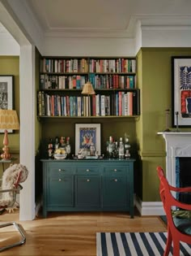
[[[140,215],[165,215],[162,202],[142,202],[140,198],[136,198],[135,206]]]

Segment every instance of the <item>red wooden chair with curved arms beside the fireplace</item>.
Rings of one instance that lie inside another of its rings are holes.
[[[179,212],[189,216],[191,204],[180,202],[176,193],[191,193],[189,188],[175,188],[168,184],[163,168],[157,167],[159,176],[159,194],[168,221],[168,239],[163,256],[168,256],[173,243],[173,256],[180,255],[180,241],[191,244],[191,219],[180,217]],[[174,193],[174,194],[172,194]]]

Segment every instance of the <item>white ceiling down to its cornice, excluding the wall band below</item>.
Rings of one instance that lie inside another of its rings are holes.
[[[20,0],[43,33],[132,37],[137,20],[190,25],[191,0]]]

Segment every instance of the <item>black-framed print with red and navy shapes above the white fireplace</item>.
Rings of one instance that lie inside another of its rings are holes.
[[[191,56],[172,57],[172,127],[191,127]]]

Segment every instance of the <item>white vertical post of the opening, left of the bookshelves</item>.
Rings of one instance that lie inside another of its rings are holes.
[[[20,193],[20,220],[35,219],[35,47],[20,48],[20,163],[28,179]]]

